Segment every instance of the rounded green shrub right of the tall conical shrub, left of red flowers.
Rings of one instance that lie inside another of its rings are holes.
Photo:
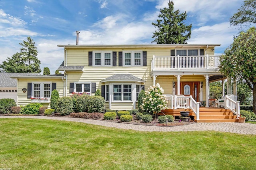
[[[57,111],[60,115],[68,115],[73,111],[73,101],[70,97],[62,97],[57,102]]]

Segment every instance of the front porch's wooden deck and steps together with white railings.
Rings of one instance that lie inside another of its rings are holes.
[[[180,116],[180,111],[189,111],[190,117],[195,122],[238,122],[240,116],[239,101],[234,101],[225,96],[225,108],[200,107],[200,102],[195,102],[192,96],[168,97],[169,109],[162,110],[158,115]]]

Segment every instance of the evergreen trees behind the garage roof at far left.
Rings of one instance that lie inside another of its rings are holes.
[[[24,40],[20,45],[20,53],[15,53],[0,64],[1,72],[41,72],[41,62],[36,57],[38,51],[33,39],[27,37],[27,41]]]

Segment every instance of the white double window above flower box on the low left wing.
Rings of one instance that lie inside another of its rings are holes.
[[[32,98],[50,98],[51,92],[50,83],[33,83]]]

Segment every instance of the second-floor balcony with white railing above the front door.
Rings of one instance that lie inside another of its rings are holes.
[[[220,56],[153,56],[151,74],[156,72],[218,72]]]

